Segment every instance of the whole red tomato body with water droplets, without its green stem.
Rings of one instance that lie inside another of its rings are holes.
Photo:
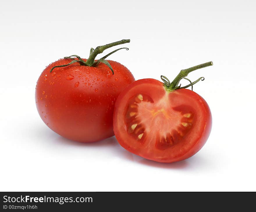
[[[83,59],[86,61],[86,59]],[[68,64],[59,59],[40,75],[35,101],[43,122],[59,135],[79,142],[95,142],[114,135],[113,109],[121,91],[135,79],[122,64],[109,61],[97,67]]]

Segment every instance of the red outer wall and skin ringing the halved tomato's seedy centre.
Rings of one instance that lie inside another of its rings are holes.
[[[125,104],[123,97],[125,96],[126,93],[131,91],[133,88],[136,90],[136,86],[141,85],[141,84],[147,84],[150,85],[151,89],[151,94],[153,96],[153,99],[160,99],[161,96],[163,96],[166,93],[166,90],[163,86],[163,83],[156,80],[156,79],[141,79],[137,80],[133,83],[131,83],[129,86],[127,86],[122,93],[119,95],[116,103],[115,103],[115,108],[114,108],[114,115],[113,115],[113,126],[114,126],[114,133],[115,137],[120,143],[120,145],[125,148],[126,150],[130,151],[131,153],[134,153],[136,155],[139,155],[141,157],[144,157],[148,160],[153,160],[157,162],[162,162],[162,163],[172,163],[172,162],[177,162],[181,160],[185,160],[191,156],[193,156],[195,153],[197,153],[206,143],[210,132],[211,132],[211,127],[212,127],[212,116],[211,116],[211,111],[210,108],[205,101],[200,95],[195,93],[192,90],[188,89],[178,89],[173,92],[177,92],[182,95],[189,95],[193,97],[197,102],[200,102],[200,110],[202,112],[203,119],[200,120],[201,122],[205,123],[204,129],[200,131],[200,133],[197,135],[198,139],[196,139],[193,142],[193,146],[189,149],[189,151],[184,152],[182,155],[179,155],[178,157],[174,158],[155,158],[149,153],[141,153],[138,151],[138,148],[134,148],[132,145],[129,145],[125,140],[128,137],[124,137],[125,131],[120,127],[120,124],[122,124],[122,115],[120,114],[120,108],[123,109],[123,104]],[[168,92],[168,91],[167,91]]]

